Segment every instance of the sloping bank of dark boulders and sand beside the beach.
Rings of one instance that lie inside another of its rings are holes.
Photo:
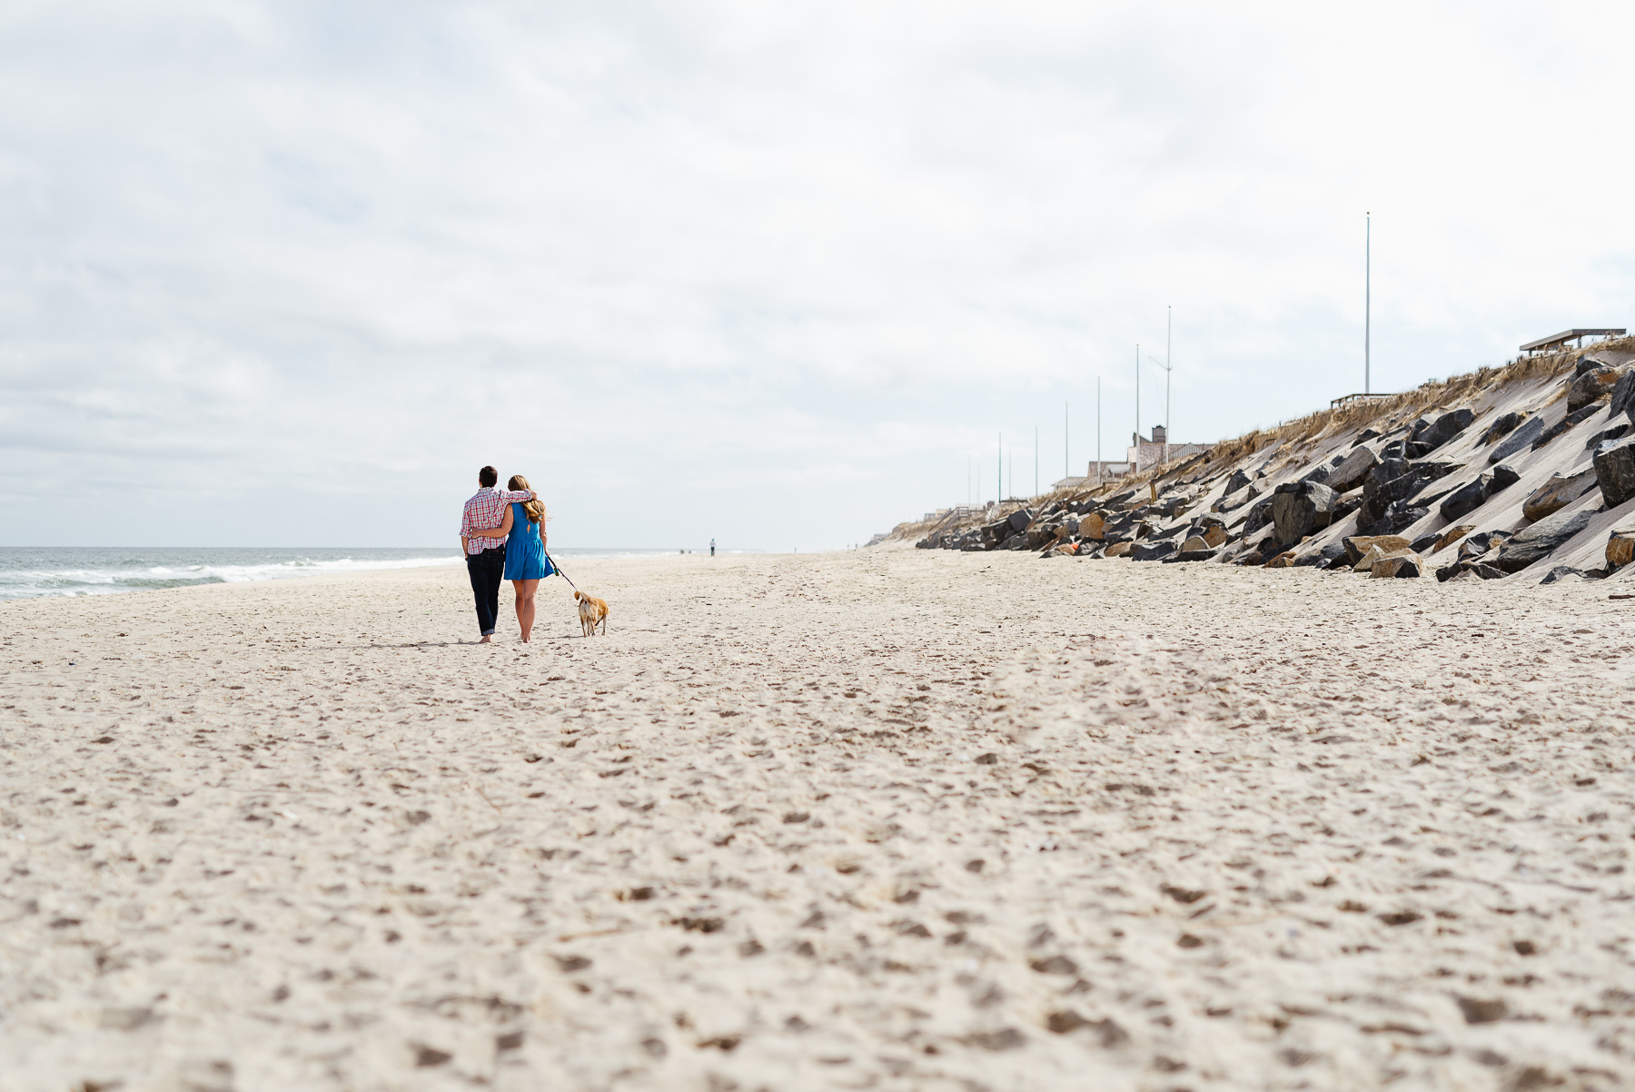
[[[1390,579],[1635,577],[1632,427],[1625,338],[1315,414],[916,544]]]

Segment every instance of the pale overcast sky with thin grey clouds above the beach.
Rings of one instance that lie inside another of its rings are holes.
[[[819,549],[1630,325],[1627,5],[0,7],[0,544]],[[1071,405],[1068,451],[1063,409]],[[1009,469],[1007,469],[1009,474]]]

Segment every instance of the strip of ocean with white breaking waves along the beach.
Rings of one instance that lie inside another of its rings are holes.
[[[674,549],[553,549],[551,556],[638,557]],[[193,584],[283,580],[363,569],[458,566],[459,548],[263,549],[0,546],[0,600],[41,595],[110,595]],[[569,566],[572,569],[572,566]]]

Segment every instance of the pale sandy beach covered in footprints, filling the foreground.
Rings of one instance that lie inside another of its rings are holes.
[[[0,1089],[1635,1079],[1630,580],[571,574],[0,603]]]

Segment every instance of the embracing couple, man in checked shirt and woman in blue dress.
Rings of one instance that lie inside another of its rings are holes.
[[[540,580],[556,572],[544,556],[544,505],[528,487],[528,479],[512,474],[505,489],[492,466],[477,471],[476,495],[466,502],[459,520],[459,549],[466,554],[466,575],[477,600],[477,628],[482,644],[494,641],[500,613],[500,580],[517,592],[517,624],[523,642],[533,633],[533,597]]]

